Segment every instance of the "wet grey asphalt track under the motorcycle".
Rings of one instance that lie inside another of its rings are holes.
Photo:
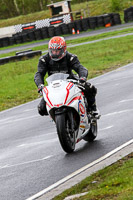
[[[133,64],[90,80],[102,117],[94,143],[73,154],[60,147],[55,125],[41,117],[40,99],[0,112],[0,200],[24,200],[133,137]]]

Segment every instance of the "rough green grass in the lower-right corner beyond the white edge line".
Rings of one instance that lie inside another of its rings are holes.
[[[73,200],[132,200],[133,153],[87,177],[53,200],[63,200],[67,196],[84,192],[88,193]]]

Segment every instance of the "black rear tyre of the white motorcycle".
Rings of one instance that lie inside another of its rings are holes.
[[[97,137],[97,120],[94,120],[88,131],[88,134],[83,138],[85,141],[93,142],[93,140]]]

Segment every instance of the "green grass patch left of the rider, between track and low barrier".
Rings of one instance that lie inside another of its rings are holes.
[[[38,58],[0,66],[0,110],[37,98],[34,73]]]

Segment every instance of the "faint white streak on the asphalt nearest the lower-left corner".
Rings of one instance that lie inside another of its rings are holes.
[[[5,165],[3,167],[0,167],[0,169],[17,167],[17,166],[21,166],[21,165],[26,165],[26,164],[34,163],[34,162],[40,162],[40,161],[43,161],[43,160],[47,160],[48,158],[51,158],[51,157],[52,157],[52,155],[44,157],[44,158],[41,158],[41,159],[31,160],[31,161],[27,161],[27,162],[23,162],[23,163],[18,163],[18,164],[14,164],[14,165],[7,164],[7,165]]]

